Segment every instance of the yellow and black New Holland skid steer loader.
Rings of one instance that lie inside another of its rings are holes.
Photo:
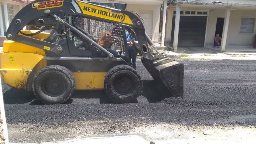
[[[46,104],[63,103],[74,90],[105,89],[117,103],[134,101],[142,81],[128,56],[128,32],[155,81],[183,98],[183,64],[159,53],[145,33],[144,20],[125,9],[123,3],[33,1],[6,32],[0,53],[3,81],[33,91]]]

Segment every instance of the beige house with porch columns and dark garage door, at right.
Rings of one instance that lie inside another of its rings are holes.
[[[190,0],[168,6],[165,45],[213,47],[214,36],[222,36],[221,51],[255,45],[255,0]]]

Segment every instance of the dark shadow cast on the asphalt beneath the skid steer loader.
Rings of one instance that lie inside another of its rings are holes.
[[[159,102],[171,96],[168,89],[154,80],[143,81],[142,96],[146,97],[148,102]],[[99,103],[110,104],[115,103],[108,97],[104,90],[78,90],[75,91],[71,99],[64,104],[71,104],[73,99],[99,99]],[[43,105],[37,100],[32,92],[26,90],[11,88],[4,93],[5,104],[23,104],[30,102],[30,105]],[[138,103],[138,100],[132,102]]]

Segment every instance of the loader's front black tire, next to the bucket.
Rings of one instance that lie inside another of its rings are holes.
[[[122,92],[121,85],[128,85],[128,89]],[[104,86],[109,98],[117,103],[134,102],[142,91],[141,78],[129,65],[117,65],[111,68],[105,77]]]

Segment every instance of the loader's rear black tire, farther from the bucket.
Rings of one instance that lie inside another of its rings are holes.
[[[45,104],[64,103],[75,91],[75,77],[63,66],[46,66],[35,75],[32,88],[36,98]]]

